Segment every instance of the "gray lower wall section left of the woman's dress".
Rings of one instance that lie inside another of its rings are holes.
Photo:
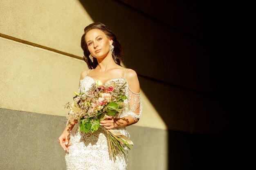
[[[0,108],[1,170],[64,170],[65,117]]]

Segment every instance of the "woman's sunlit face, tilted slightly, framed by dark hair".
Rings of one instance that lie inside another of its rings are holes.
[[[85,43],[91,55],[96,58],[106,57],[110,53],[109,48],[112,40],[108,39],[106,34],[99,29],[91,29],[85,34]]]

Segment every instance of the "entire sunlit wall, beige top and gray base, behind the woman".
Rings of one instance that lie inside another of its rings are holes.
[[[87,69],[80,39],[92,16],[76,0],[2,0],[0,11],[0,170],[65,169],[57,142],[67,114],[62,105]],[[143,89],[141,98],[141,120],[128,127],[135,143],[128,169],[165,170],[166,124]]]

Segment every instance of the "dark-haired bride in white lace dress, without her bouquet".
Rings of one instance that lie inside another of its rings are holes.
[[[122,88],[128,99],[124,102],[129,108],[100,121],[101,127],[94,133],[80,132],[79,123],[67,124],[58,141],[66,150],[68,170],[125,170],[127,154],[118,155],[115,161],[110,159],[106,129],[129,137],[125,127],[137,123],[141,116],[139,80],[135,71],[121,66],[121,45],[108,26],[92,23],[85,27],[84,32],[81,47],[89,70],[81,73],[79,93],[86,93],[97,80],[101,80],[104,86],[125,84]]]

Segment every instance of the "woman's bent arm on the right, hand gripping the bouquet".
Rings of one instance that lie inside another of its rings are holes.
[[[132,69],[126,71],[126,81],[128,82],[128,103],[130,111],[124,115],[124,117],[114,119],[112,116],[108,116],[103,121],[100,121],[100,125],[106,129],[112,129],[115,127],[126,127],[135,124],[139,121],[141,115],[141,100],[139,93],[139,80],[137,74]]]

